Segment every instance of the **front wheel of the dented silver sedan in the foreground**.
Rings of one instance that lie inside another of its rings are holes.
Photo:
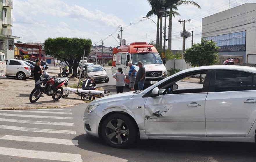
[[[112,114],[102,123],[101,135],[103,140],[116,148],[127,148],[136,140],[135,123],[127,115]]]

